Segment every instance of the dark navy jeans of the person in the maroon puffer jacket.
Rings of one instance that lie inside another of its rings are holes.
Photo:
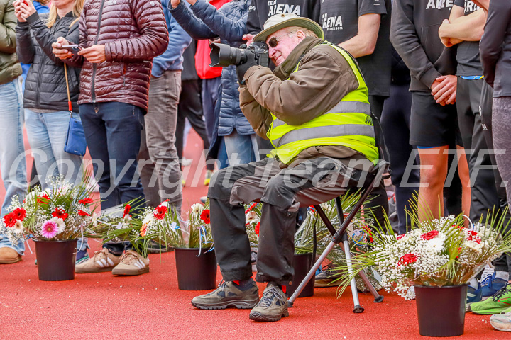
[[[142,110],[128,103],[87,103],[80,117],[99,184],[101,209],[145,199],[137,155],[141,145]]]

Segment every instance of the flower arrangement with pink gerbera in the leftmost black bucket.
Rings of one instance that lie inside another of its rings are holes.
[[[55,177],[45,191],[36,186],[24,200],[13,197],[11,213],[0,222],[0,233],[13,244],[28,235],[51,241],[77,239],[82,235],[99,237],[90,193],[84,182],[74,186],[62,176]]]

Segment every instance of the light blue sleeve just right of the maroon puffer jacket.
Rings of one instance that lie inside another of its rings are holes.
[[[188,33],[186,33],[175,18],[170,15],[164,1],[162,1],[162,6],[169,31],[169,44],[167,50],[157,57],[159,62],[153,62],[152,74],[154,77],[161,77],[163,72],[169,69],[171,64],[182,57],[183,52],[190,42],[192,42],[192,38],[190,38]]]

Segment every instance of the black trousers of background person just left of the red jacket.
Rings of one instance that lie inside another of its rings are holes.
[[[182,159],[183,153],[183,133],[185,130],[185,119],[188,118],[192,128],[202,139],[202,147],[206,152],[209,150],[209,138],[202,114],[201,94],[199,80],[185,80],[181,82],[181,95],[179,106],[177,106],[177,125],[176,125],[176,148],[177,156]],[[206,169],[213,170],[214,164],[208,163]]]

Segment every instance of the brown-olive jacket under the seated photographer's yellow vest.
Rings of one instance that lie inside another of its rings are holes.
[[[266,133],[273,120],[270,112],[287,124],[300,125],[329,111],[358,88],[348,61],[333,47],[319,45],[322,42],[307,37],[273,72],[260,66],[246,72],[246,85],[239,88],[241,111],[260,137],[268,140]],[[300,67],[293,73],[298,62]],[[318,145],[304,149],[289,166],[317,157],[364,158],[348,147]]]

